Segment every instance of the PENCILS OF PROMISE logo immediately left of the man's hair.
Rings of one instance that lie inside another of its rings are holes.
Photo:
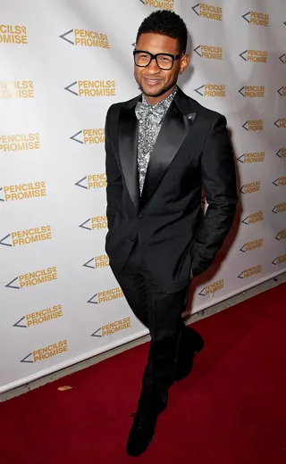
[[[97,46],[100,48],[110,48],[106,34],[87,29],[70,29],[63,32],[61,36],[71,46]]]

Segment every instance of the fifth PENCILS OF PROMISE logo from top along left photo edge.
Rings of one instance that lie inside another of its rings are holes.
[[[11,232],[0,239],[0,244],[5,246],[21,246],[23,244],[36,244],[52,239],[51,226],[42,226],[41,228],[27,228]]]

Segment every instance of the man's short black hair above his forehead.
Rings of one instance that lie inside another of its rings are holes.
[[[147,18],[145,18],[139,27],[136,43],[138,43],[141,34],[148,33],[176,38],[178,40],[179,53],[186,53],[188,30],[185,22],[181,19],[179,14],[166,10],[152,12],[149,16],[147,16]]]

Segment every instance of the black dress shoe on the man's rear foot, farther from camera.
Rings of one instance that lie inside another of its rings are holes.
[[[185,326],[181,334],[178,359],[174,380],[182,380],[189,376],[193,368],[193,361],[198,352],[204,347],[203,338],[193,328]]]

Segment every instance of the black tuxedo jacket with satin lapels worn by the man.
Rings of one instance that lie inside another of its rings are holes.
[[[150,155],[139,195],[139,121],[132,100],[106,116],[107,221],[105,251],[120,271],[138,237],[147,267],[167,292],[205,271],[223,244],[238,200],[224,116],[178,89]],[[201,209],[202,186],[209,204]]]

